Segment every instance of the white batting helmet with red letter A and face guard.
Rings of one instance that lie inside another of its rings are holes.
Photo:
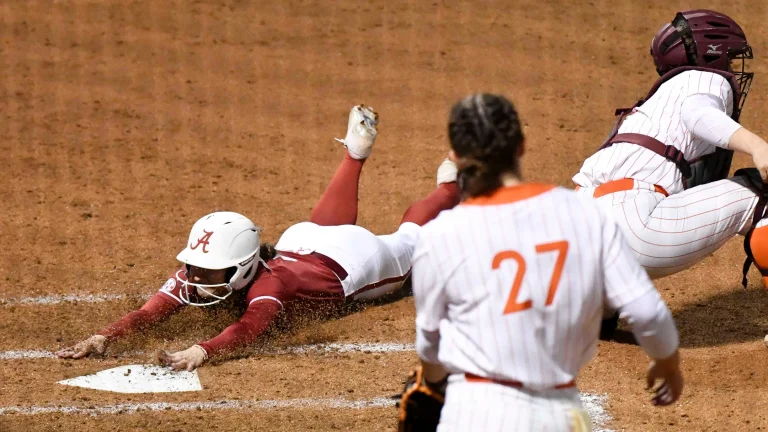
[[[181,299],[193,306],[218,303],[233,290],[248,285],[256,274],[259,258],[259,232],[261,229],[247,217],[233,212],[216,212],[203,216],[192,226],[187,247],[176,257],[187,266],[208,270],[228,269],[227,281],[216,285],[189,282],[177,276],[182,283]],[[190,300],[189,287],[204,291],[214,300],[198,303]],[[225,287],[227,293],[215,295],[206,288]]]

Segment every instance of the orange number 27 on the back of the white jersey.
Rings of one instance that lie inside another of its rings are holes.
[[[568,255],[568,242],[557,241],[536,245],[536,253],[544,254],[550,252],[557,252],[557,260],[555,261],[555,270],[552,272],[552,278],[549,280],[549,291],[547,292],[547,302],[545,303],[545,306],[551,305],[555,300],[555,293],[557,292],[557,286],[560,284],[563,265],[565,265],[565,256]],[[515,281],[512,283],[512,291],[509,293],[507,304],[504,307],[504,315],[522,312],[533,307],[532,300],[519,301],[517,298],[520,293],[520,286],[523,284],[523,277],[525,276],[525,258],[523,258],[520,253],[513,250],[497,253],[496,256],[493,257],[491,268],[497,270],[501,266],[502,261],[508,259],[517,262],[517,274],[515,275]]]

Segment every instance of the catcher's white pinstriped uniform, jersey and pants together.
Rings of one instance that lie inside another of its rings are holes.
[[[639,133],[680,149],[692,161],[716,146],[696,136],[682,122],[687,96],[711,95],[726,114],[733,111],[727,80],[704,71],[687,71],[670,79],[630,114],[619,133]],[[574,182],[578,193],[592,196],[601,184],[623,178],[634,189],[597,198],[611,209],[640,263],[652,277],[688,268],[713,253],[736,234],[749,229],[757,203],[754,192],[740,180],[720,180],[683,190],[675,165],[641,146],[615,144],[588,158]],[[661,186],[670,196],[654,191]]]

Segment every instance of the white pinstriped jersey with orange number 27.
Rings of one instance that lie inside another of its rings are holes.
[[[502,188],[422,228],[417,351],[454,374],[551,389],[594,355],[606,302],[619,309],[653,289],[594,201],[547,185]],[[419,335],[438,331],[430,352]]]

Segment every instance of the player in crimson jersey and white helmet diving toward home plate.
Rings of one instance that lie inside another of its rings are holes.
[[[355,226],[358,182],[377,136],[378,115],[352,108],[342,142],[347,155],[309,222],[288,228],[277,245],[262,247],[248,218],[232,212],[204,216],[192,227],[177,270],[141,309],[97,334],[62,349],[61,358],[103,354],[110,342],[152,326],[182,307],[229,302],[247,306],[218,336],[186,350],[161,352],[161,363],[194,370],[206,360],[255,342],[280,315],[325,312],[345,302],[370,300],[399,288],[411,268],[421,225],[459,201],[456,166],[444,161],[437,189],[413,204],[397,232],[376,236]]]

